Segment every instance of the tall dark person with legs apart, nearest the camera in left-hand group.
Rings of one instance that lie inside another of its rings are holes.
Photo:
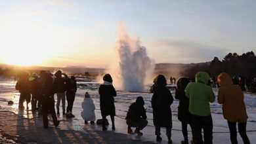
[[[54,126],[58,126],[60,120],[57,120],[55,109],[54,109],[54,86],[53,78],[50,73],[41,71],[41,77],[43,83],[41,85],[42,90],[42,109],[43,109],[43,127],[48,128],[48,113],[51,113],[53,117]]]

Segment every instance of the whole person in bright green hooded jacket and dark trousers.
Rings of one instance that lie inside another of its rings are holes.
[[[213,143],[213,119],[209,102],[215,101],[215,94],[211,86],[207,85],[209,79],[208,73],[200,71],[196,74],[196,82],[190,82],[185,88],[194,128],[194,143],[203,143],[202,128],[204,143]]]

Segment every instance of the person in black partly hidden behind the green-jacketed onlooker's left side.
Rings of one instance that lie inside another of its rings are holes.
[[[181,141],[183,144],[188,144],[188,124],[190,128],[192,128],[190,113],[188,111],[189,107],[189,99],[185,96],[185,88],[186,85],[190,82],[190,79],[187,77],[180,77],[177,81],[177,89],[175,91],[175,99],[179,99],[179,107],[178,107],[178,120],[181,121],[182,126],[182,134],[184,136],[184,141]],[[193,132],[192,132],[193,134]],[[192,140],[193,141],[193,140]]]

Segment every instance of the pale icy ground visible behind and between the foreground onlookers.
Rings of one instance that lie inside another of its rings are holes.
[[[83,79],[79,78],[77,79],[77,95],[75,97],[74,102],[74,110],[73,113],[75,114],[75,118],[72,119],[66,119],[65,117],[62,117],[60,115],[60,120],[70,120],[72,121],[72,126],[75,128],[75,130],[79,130],[81,132],[84,132],[84,124],[83,119],[81,118],[81,102],[83,101],[83,95],[85,92],[89,92],[91,94],[91,98],[93,98],[95,105],[96,105],[96,119],[101,118],[100,116],[100,107],[99,107],[99,96],[98,96],[98,86],[99,84],[95,81],[92,81],[90,79]],[[15,90],[15,83],[16,81],[12,81],[9,79],[0,79],[0,110],[1,111],[13,111],[17,115],[23,115],[23,117],[38,117],[37,115],[33,114],[32,111],[24,111],[24,113],[19,113],[18,111],[18,99],[19,99],[19,93]],[[170,85],[172,87],[174,85]],[[170,89],[173,97],[174,97],[174,88]],[[213,89],[216,96],[218,89]],[[253,143],[253,141],[256,141],[256,94],[245,94],[245,105],[247,108],[247,115],[248,115],[248,122],[247,122],[247,135]],[[142,130],[144,135],[137,136],[135,134],[129,135],[131,139],[142,139],[142,141],[156,141],[156,136],[154,135],[154,126],[152,121],[152,107],[150,104],[150,100],[152,97],[152,94],[148,92],[124,92],[117,90],[117,97],[115,98],[115,105],[116,105],[116,131],[117,133],[127,134],[127,125],[125,123],[125,115],[127,113],[129,105],[135,101],[135,99],[138,96],[142,96],[145,101],[145,109],[147,111],[148,116],[148,126]],[[217,97],[216,97],[217,99]],[[7,105],[7,102],[9,100],[14,101],[14,105]],[[177,107],[179,105],[179,101],[175,100],[173,104],[171,105],[171,110],[173,112],[173,130],[172,130],[172,139],[173,143],[180,143],[180,141],[183,139],[182,132],[181,132],[181,122],[177,120]],[[61,107],[61,105],[60,105]],[[31,109],[31,105],[30,105]],[[61,113],[61,112],[60,112]],[[228,133],[228,125],[226,120],[224,120],[222,115],[222,109],[221,105],[215,101],[214,103],[211,103],[211,113],[213,117],[213,143],[230,143],[229,140],[229,133]],[[40,117],[40,116],[39,116]],[[110,118],[108,117],[108,120],[110,122]],[[110,122],[111,124],[111,122]],[[90,126],[90,124],[89,124]],[[62,126],[60,124],[61,129],[65,129],[65,126]],[[95,130],[101,130],[100,126],[91,126],[91,128]],[[109,126],[108,130],[111,130],[111,125]],[[254,132],[255,131],[255,132]],[[167,138],[165,137],[165,130],[161,130],[161,135],[163,138],[163,143],[166,143]],[[191,133],[188,134],[189,138],[191,139]],[[242,143],[242,139],[240,135],[238,134],[238,143]]]

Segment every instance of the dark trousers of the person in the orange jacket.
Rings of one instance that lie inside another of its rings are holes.
[[[247,122],[238,122],[238,132],[241,135],[245,144],[249,144],[250,141],[246,135],[246,123]],[[228,128],[230,132],[230,141],[232,144],[237,144],[238,140],[236,139],[236,122],[228,121]]]

